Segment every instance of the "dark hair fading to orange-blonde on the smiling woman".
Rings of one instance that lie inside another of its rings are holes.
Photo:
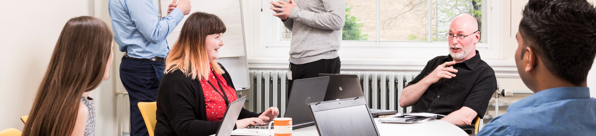
[[[191,14],[184,26],[180,36],[166,59],[166,72],[169,73],[180,69],[187,77],[196,79],[198,75],[209,80],[209,64],[218,74],[224,74],[218,62],[209,62],[205,39],[208,35],[225,33],[224,21],[217,15],[206,12],[194,12]]]

